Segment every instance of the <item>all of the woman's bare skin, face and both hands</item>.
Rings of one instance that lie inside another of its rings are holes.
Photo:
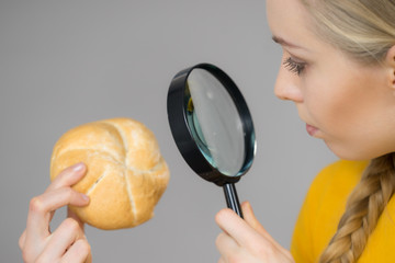
[[[381,65],[362,66],[314,35],[298,0],[267,0],[268,20],[283,49],[274,93],[295,103],[303,122],[340,158],[364,160],[395,150],[395,46]],[[313,127],[313,128],[312,128]],[[91,262],[83,225],[72,214],[54,231],[54,211],[83,206],[71,190],[83,164],[68,168],[44,194],[31,201],[26,230],[20,238],[25,262]],[[245,219],[230,209],[215,217],[223,230],[216,239],[219,263],[294,262],[291,253],[264,230],[248,202]]]

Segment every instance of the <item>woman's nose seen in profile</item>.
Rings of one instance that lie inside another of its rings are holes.
[[[281,67],[274,85],[274,94],[280,100],[303,102],[303,93],[300,85],[300,77]]]

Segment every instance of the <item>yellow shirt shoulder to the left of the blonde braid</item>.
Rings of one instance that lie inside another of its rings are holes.
[[[347,198],[366,165],[366,161],[339,160],[316,175],[294,228],[291,252],[296,262],[316,262],[336,232]]]

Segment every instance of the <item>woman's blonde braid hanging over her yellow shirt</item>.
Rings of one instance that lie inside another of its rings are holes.
[[[395,190],[395,155],[373,159],[350,194],[338,230],[320,263],[351,263],[362,254],[370,233]]]

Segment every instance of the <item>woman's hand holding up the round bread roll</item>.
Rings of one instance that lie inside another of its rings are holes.
[[[24,262],[91,262],[83,224],[68,210],[68,218],[52,232],[49,222],[56,209],[65,205],[84,206],[89,197],[70,186],[86,174],[83,163],[65,169],[48,188],[30,202],[26,229],[19,245]]]

